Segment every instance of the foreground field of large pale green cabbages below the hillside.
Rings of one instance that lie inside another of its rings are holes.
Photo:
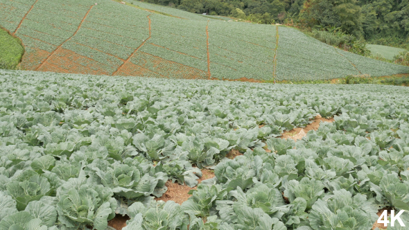
[[[115,215],[130,217],[124,230],[369,230],[378,210],[409,210],[406,87],[31,71],[0,82],[0,230],[105,230]],[[317,115],[335,121],[279,138]],[[198,185],[202,168],[216,177]],[[154,200],[168,180],[198,187],[182,205]]]

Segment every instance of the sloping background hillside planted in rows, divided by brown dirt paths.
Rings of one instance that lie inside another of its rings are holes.
[[[112,0],[0,0],[0,26],[26,46],[21,66],[37,71],[228,80],[409,71],[341,51],[293,28],[132,3],[138,6]]]

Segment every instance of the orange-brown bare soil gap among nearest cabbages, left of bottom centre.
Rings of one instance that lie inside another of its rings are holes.
[[[198,183],[202,182],[204,179],[210,179],[214,177],[214,171],[209,170],[207,168],[202,169],[202,177],[198,179]],[[191,197],[189,191],[192,189],[198,188],[198,186],[195,186],[193,188],[186,186],[185,184],[177,184],[177,183],[172,183],[172,180],[168,180],[166,182],[166,186],[168,187],[168,191],[162,195],[162,197],[155,197],[155,200],[163,200],[164,202],[167,202],[169,200],[173,200],[177,204],[182,204],[186,200]]]

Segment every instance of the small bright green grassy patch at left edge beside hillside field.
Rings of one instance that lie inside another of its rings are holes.
[[[0,69],[15,69],[24,54],[19,39],[0,28]]]

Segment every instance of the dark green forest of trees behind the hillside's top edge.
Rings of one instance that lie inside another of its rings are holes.
[[[297,24],[338,31],[372,44],[407,48],[408,0],[145,0],[261,24]]]

